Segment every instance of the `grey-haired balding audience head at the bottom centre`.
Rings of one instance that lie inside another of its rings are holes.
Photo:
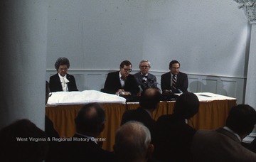
[[[117,129],[114,153],[119,161],[147,161],[154,151],[149,129],[138,121],[128,121]]]

